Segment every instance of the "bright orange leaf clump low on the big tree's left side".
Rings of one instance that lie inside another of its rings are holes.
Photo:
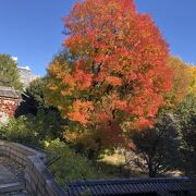
[[[90,113],[94,110],[93,102],[76,100],[71,107],[71,111],[68,113],[70,120],[77,121],[83,125],[86,125],[90,120]]]

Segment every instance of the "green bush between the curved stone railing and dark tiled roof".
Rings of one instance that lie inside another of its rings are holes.
[[[59,139],[45,142],[45,147],[50,155],[60,155],[61,157],[49,169],[62,186],[72,180],[99,177],[100,173],[85,157],[75,154]]]

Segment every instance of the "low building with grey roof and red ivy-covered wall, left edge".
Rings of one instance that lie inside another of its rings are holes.
[[[0,122],[13,117],[20,103],[20,95],[12,87],[0,86]]]

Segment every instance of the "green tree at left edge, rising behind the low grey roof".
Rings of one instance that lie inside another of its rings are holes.
[[[0,86],[14,87],[17,90],[23,88],[16,62],[4,53],[0,53]]]

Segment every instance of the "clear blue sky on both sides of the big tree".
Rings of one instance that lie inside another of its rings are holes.
[[[62,17],[75,0],[0,0],[0,53],[19,58],[35,74],[46,68],[64,39]],[[196,64],[196,0],[135,0],[150,13],[172,54]]]

